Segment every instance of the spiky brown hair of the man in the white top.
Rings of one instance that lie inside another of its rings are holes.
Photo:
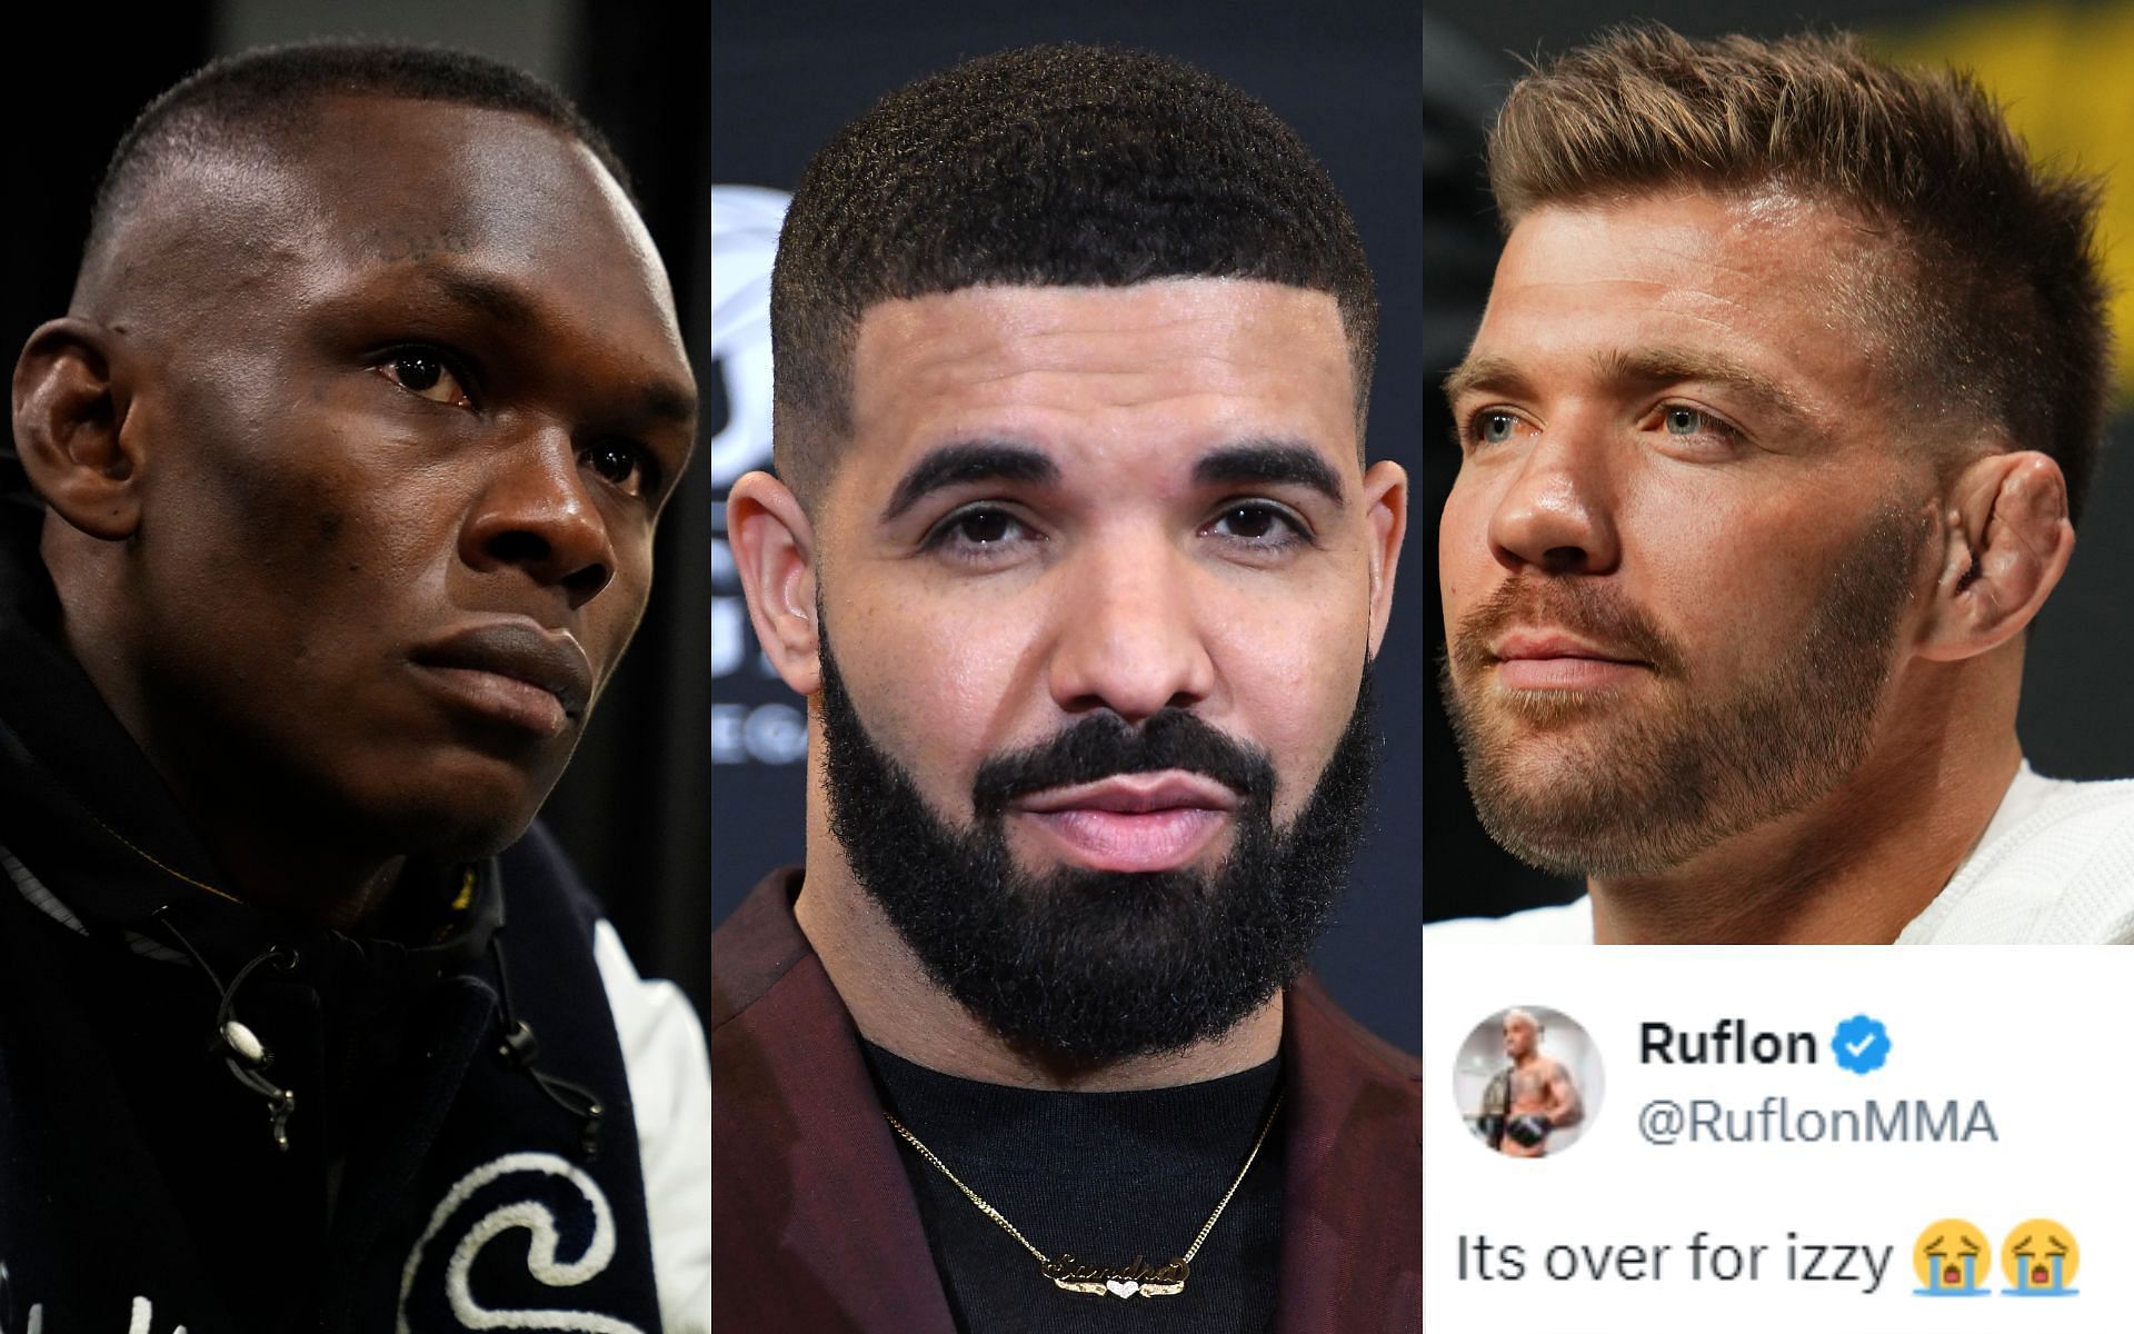
[[[1490,134],[1511,228],[1547,205],[1765,188],[1891,237],[1863,316],[1923,416],[2051,455],[2081,514],[2111,388],[2098,181],[2034,164],[1974,79],[1850,36],[1690,41],[1618,28],[1513,85]]]

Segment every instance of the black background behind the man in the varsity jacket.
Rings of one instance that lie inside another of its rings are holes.
[[[36,324],[66,314],[96,179],[149,98],[224,51],[380,36],[480,51],[546,77],[578,102],[632,171],[702,380],[711,292],[702,4],[175,0],[102,21],[122,23],[124,41],[90,43],[83,32],[79,49],[32,51],[19,38],[9,62],[0,342],[11,365]],[[708,510],[700,448],[659,529],[644,625],[542,813],[604,896],[638,969],[674,978],[700,1007],[711,988]]]

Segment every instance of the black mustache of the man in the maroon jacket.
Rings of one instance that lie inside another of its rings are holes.
[[[984,820],[1033,792],[1159,768],[1210,777],[1236,792],[1240,805],[1274,800],[1274,762],[1263,749],[1184,709],[1161,709],[1140,726],[1093,713],[1050,741],[986,760],[971,779],[971,807]]]

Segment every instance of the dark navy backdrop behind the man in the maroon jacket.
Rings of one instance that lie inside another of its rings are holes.
[[[1368,452],[1400,461],[1413,478],[1423,410],[1415,376],[1423,284],[1417,248],[1421,36],[1413,4],[1189,9],[1090,0],[977,9],[941,4],[913,13],[854,0],[719,4],[713,11],[715,184],[790,190],[809,154],[869,105],[965,55],[1037,41],[1105,41],[1191,60],[1295,126],[1347,196],[1385,309]],[[723,307],[715,322],[728,327]],[[730,384],[728,371],[715,367],[713,378]],[[721,452],[736,463],[717,470],[715,489],[732,480],[749,450],[736,440]],[[766,455],[749,465],[764,461]],[[1387,749],[1379,771],[1376,832],[1357,862],[1340,924],[1317,954],[1317,969],[1340,1003],[1406,1050],[1421,1037],[1421,830],[1415,811],[1421,807],[1421,683],[1436,636],[1426,632],[1423,617],[1434,514],[1411,493],[1394,621],[1379,655]],[[730,911],[773,867],[802,858],[807,800],[805,764],[794,745],[800,700],[762,664],[740,613],[740,589],[721,555],[715,538],[713,660],[721,672],[713,679],[715,916]]]

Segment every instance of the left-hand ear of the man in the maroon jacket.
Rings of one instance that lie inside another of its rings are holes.
[[[785,482],[768,472],[740,476],[726,493],[726,542],[749,600],[755,640],[785,685],[822,689],[815,625],[815,527]]]

